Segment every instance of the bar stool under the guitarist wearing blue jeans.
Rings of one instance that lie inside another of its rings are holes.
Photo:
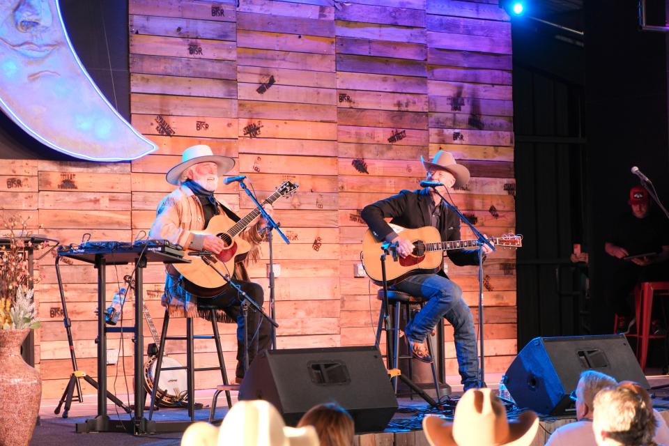
[[[394,291],[394,290],[388,290],[388,305],[390,308],[388,308],[388,314],[390,316],[390,326],[385,327],[385,324],[383,323],[383,314],[384,314],[384,306],[385,306],[385,300],[383,298],[383,289],[378,290],[378,293],[376,293],[376,298],[381,301],[381,309],[378,314],[378,325],[376,327],[376,346],[379,346],[380,339],[381,339],[381,332],[385,331],[386,332],[386,355],[384,355],[387,359],[387,367],[388,369],[397,369],[399,367],[399,360],[401,359],[408,359],[409,360],[409,379],[413,377],[413,367],[411,364],[411,360],[413,359],[413,355],[409,351],[408,355],[399,355],[399,321],[400,321],[400,315],[402,309],[404,310],[404,320],[408,321],[409,320],[409,314],[410,314],[410,307],[411,304],[418,304],[421,307],[423,306],[424,301],[420,298],[416,298],[413,295],[410,295],[408,293],[403,293],[402,291]],[[430,336],[428,334],[428,336]],[[427,342],[427,348],[430,353],[430,356],[432,357],[433,361],[430,364],[430,367],[432,369],[432,379],[434,383],[434,388],[436,391],[437,398],[440,399],[441,397],[441,392],[439,389],[439,383],[438,383],[438,378],[437,378],[437,371],[435,367],[435,355],[434,351],[432,348],[432,342],[431,339],[428,338]],[[392,353],[391,353],[392,352]],[[395,381],[395,392],[397,393],[397,380]],[[412,393],[413,395],[413,393]]]

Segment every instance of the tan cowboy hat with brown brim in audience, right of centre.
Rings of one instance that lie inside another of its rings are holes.
[[[516,420],[490,389],[470,389],[455,408],[453,422],[437,415],[423,418],[423,430],[432,446],[528,446],[539,429],[537,414],[529,410]]]

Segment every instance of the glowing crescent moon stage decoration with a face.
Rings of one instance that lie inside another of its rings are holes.
[[[0,0],[0,108],[41,143],[85,160],[134,160],[157,150],[86,72],[58,0]]]

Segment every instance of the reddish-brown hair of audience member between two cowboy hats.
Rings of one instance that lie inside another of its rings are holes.
[[[355,424],[346,409],[337,403],[319,404],[302,415],[298,427],[314,426],[321,446],[351,446]]]

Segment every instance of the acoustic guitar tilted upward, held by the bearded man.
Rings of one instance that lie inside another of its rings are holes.
[[[277,190],[271,194],[263,203],[272,204],[281,197],[286,197],[292,194],[299,185],[293,184],[290,181],[285,181]],[[232,275],[235,270],[235,263],[243,261],[249,251],[251,244],[240,238],[239,234],[260,215],[260,210],[255,208],[249,212],[243,219],[238,222],[233,222],[224,213],[221,215],[214,215],[207,224],[206,229],[202,231],[192,231],[194,234],[203,236],[217,236],[225,243],[224,249],[220,254],[213,254],[209,256],[209,260],[217,270],[223,274]],[[193,252],[192,249],[186,249],[185,259],[190,259],[191,263],[174,263],[174,268],[187,279],[188,282],[198,286],[202,289],[217,289],[226,284],[225,279],[215,272],[210,266],[197,256],[188,256],[188,252]]]

